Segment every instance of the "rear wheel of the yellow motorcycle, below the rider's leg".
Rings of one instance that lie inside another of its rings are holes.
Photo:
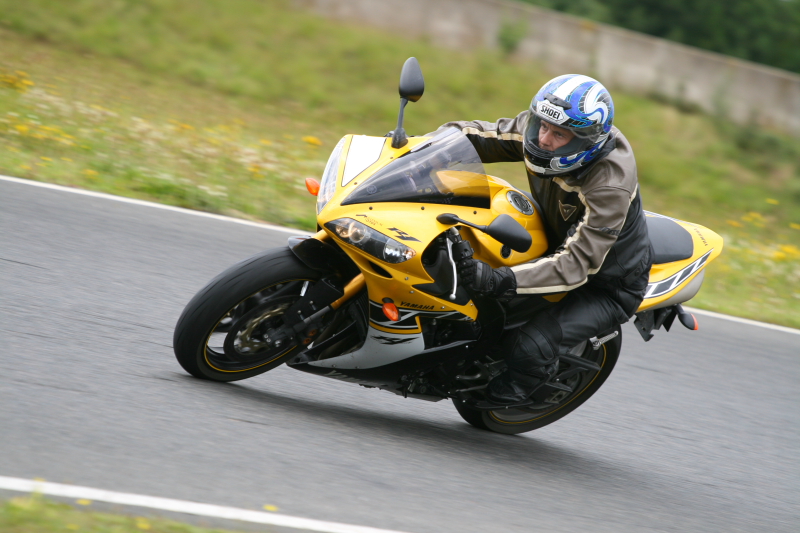
[[[572,392],[558,391],[544,403],[531,407],[494,411],[473,409],[460,400],[453,400],[458,414],[475,427],[507,435],[525,433],[552,424],[588,400],[611,374],[622,347],[622,331],[619,328],[617,331],[620,332],[619,335],[597,350],[591,343],[584,341],[569,352],[574,357],[596,363],[600,366],[599,371],[581,369],[562,358],[555,379],[569,385]]]

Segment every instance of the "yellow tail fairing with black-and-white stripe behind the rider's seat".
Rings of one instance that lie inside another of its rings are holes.
[[[722,252],[722,237],[710,229],[691,222],[673,220],[692,236],[694,251],[688,259],[653,265],[650,270],[647,292],[638,311],[659,307],[670,299],[674,300],[668,305],[680,303],[694,296],[694,291],[692,291],[690,294],[682,295],[683,298],[678,297],[681,291],[701,275],[706,265]],[[700,281],[698,279],[698,283]]]

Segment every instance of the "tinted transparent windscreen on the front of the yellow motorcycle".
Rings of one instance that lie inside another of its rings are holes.
[[[378,202],[488,209],[491,197],[475,147],[461,131],[448,128],[380,169],[342,205]]]

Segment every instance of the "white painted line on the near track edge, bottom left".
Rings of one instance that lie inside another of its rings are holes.
[[[209,516],[213,518],[241,520],[243,522],[269,524],[273,526],[304,529],[306,531],[323,531],[325,533],[403,533],[402,531],[389,529],[353,526],[350,524],[325,522],[322,520],[312,520],[310,518],[298,518],[296,516],[288,516],[283,514],[249,511],[247,509],[237,509],[236,507],[223,507],[221,505],[187,502],[183,500],[173,500],[170,498],[156,498],[154,496],[143,496],[141,494],[113,492],[110,490],[93,489],[91,487],[62,485],[61,483],[32,481],[29,479],[20,479],[14,477],[0,476],[0,489],[17,492],[38,492],[48,496],[87,499],[98,502],[116,503],[120,505],[147,507],[149,509],[158,509],[161,511],[173,511],[176,513]]]

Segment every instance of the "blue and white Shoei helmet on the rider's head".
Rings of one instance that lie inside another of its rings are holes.
[[[542,121],[575,137],[555,151],[539,147]],[[525,164],[539,177],[575,171],[590,164],[611,133],[614,102],[599,81],[581,74],[553,78],[531,101],[525,130]]]

